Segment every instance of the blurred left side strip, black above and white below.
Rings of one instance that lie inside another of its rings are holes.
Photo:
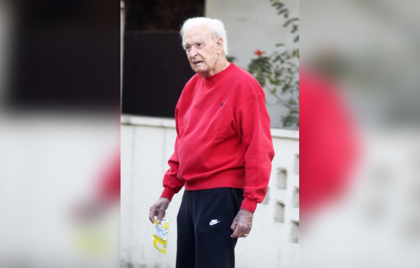
[[[0,1],[0,267],[119,265],[118,41],[118,2]]]

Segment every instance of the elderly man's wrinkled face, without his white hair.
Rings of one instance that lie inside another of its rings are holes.
[[[184,45],[191,68],[202,77],[213,75],[221,46],[213,40],[210,29],[207,26],[187,29]]]

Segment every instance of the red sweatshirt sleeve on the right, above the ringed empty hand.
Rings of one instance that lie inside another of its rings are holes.
[[[236,109],[236,125],[245,161],[244,201],[241,208],[254,212],[264,200],[274,158],[270,118],[264,96],[254,94]]]

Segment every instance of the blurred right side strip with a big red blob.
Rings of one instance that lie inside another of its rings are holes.
[[[419,267],[419,2],[299,6],[300,265]]]

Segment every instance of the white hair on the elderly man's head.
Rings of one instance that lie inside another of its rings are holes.
[[[186,29],[189,29],[191,27],[195,26],[208,26],[210,30],[213,32],[215,38],[222,37],[223,39],[223,53],[225,55],[228,55],[228,38],[226,37],[226,30],[223,22],[219,21],[215,18],[205,18],[205,17],[196,17],[196,18],[189,18],[182,24],[181,27],[181,38],[182,38],[182,47],[185,49],[185,43],[184,43],[184,35]]]

